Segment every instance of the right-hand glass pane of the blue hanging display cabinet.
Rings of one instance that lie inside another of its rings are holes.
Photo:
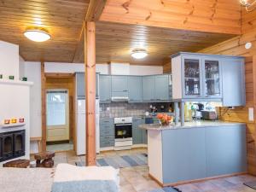
[[[219,63],[204,61],[205,96],[220,96]]]

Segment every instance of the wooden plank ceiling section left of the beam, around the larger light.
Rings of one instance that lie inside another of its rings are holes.
[[[1,0],[0,40],[20,45],[26,61],[72,62],[90,0]],[[34,43],[27,27],[44,27],[52,38]]]

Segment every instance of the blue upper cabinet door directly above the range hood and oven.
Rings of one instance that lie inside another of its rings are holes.
[[[111,76],[112,97],[128,97],[127,76]]]

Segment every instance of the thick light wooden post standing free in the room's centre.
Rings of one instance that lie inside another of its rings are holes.
[[[86,22],[84,26],[86,166],[96,166],[96,25]]]

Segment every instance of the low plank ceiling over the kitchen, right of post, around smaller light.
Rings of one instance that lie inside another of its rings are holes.
[[[233,37],[234,35],[228,34],[101,21],[96,22],[96,62],[123,61],[138,65],[163,65],[170,55],[178,51],[198,51]],[[131,57],[133,49],[146,49],[148,56],[143,60],[134,60]],[[83,61],[84,51],[81,50],[80,53],[79,58]]]

